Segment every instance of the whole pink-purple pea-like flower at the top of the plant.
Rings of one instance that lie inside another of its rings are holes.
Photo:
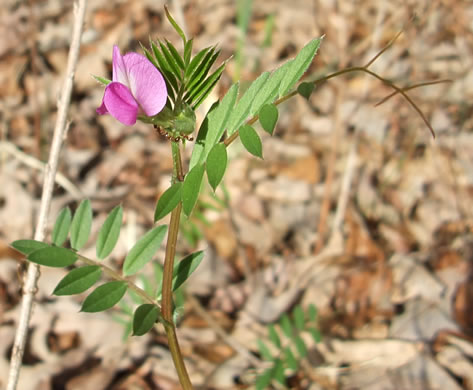
[[[97,114],[110,114],[124,125],[136,123],[138,114],[154,116],[167,99],[166,83],[158,69],[137,53],[120,54],[113,47],[113,77],[105,88]]]

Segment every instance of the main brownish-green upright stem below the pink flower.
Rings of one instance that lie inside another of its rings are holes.
[[[181,152],[178,142],[172,142],[172,160],[173,160],[173,182],[176,180],[184,180],[184,173],[182,169]],[[172,355],[174,366],[176,367],[177,375],[181,386],[184,390],[192,390],[192,383],[187,374],[184,359],[179,348],[179,342],[176,336],[176,327],[172,317],[173,301],[172,301],[172,279],[174,270],[174,258],[176,256],[176,243],[179,233],[179,222],[181,218],[182,203],[171,213],[171,222],[169,223],[169,234],[166,243],[166,256],[164,258],[163,271],[163,288],[161,300],[161,314],[164,318],[164,328],[168,337],[169,351]]]

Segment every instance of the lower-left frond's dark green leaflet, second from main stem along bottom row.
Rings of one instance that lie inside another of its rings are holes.
[[[97,313],[115,306],[126,293],[128,285],[125,282],[113,281],[97,287],[85,298],[80,311]]]

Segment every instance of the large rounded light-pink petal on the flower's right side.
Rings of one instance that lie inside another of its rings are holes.
[[[128,87],[147,116],[159,113],[166,104],[167,90],[158,69],[144,56],[128,53],[123,57]]]

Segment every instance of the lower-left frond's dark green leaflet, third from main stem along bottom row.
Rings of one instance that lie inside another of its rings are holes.
[[[58,283],[54,295],[80,294],[92,287],[100,279],[102,270],[97,265],[86,265],[73,269]]]

